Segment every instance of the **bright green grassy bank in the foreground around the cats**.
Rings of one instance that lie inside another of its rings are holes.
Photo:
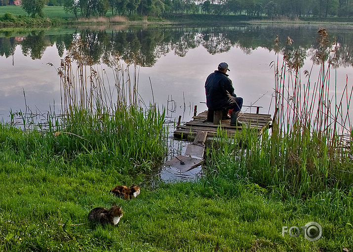
[[[144,125],[141,130],[151,128]],[[145,174],[160,155],[144,148],[129,154],[132,151],[123,147],[125,138],[115,140],[114,133],[109,139],[121,154],[112,147],[104,149],[100,142],[100,149],[83,148],[74,144],[80,138],[72,134],[43,135],[12,126],[1,126],[0,132],[2,251],[352,249],[352,191],[342,194],[333,189],[308,199],[283,199],[251,178],[232,178],[232,173],[150,187]],[[90,134],[81,136],[87,139]],[[134,148],[141,140],[131,139],[126,148]],[[70,146],[80,150],[70,151]],[[235,166],[233,160],[220,163]],[[133,183],[142,184],[135,200],[117,199],[109,192],[115,185]],[[87,222],[89,210],[110,208],[114,203],[124,212],[117,227]],[[323,227],[319,241],[309,242],[302,234],[282,236],[282,226],[300,227],[310,221]]]

